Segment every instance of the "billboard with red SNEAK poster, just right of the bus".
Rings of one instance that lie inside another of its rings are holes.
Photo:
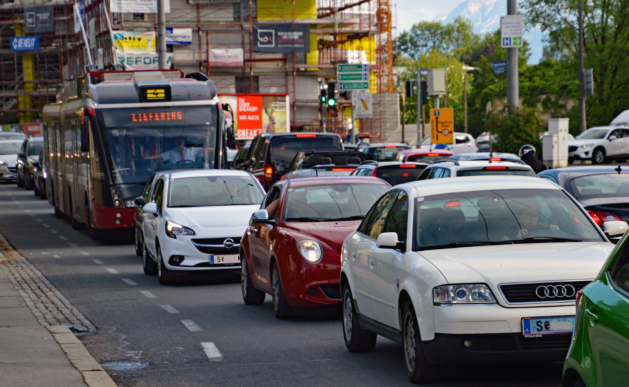
[[[250,140],[260,133],[291,131],[287,106],[288,96],[236,95],[219,96],[223,105],[229,104],[237,140]]]

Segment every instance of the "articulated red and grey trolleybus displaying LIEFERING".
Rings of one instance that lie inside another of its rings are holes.
[[[226,166],[223,109],[200,73],[87,72],[64,84],[42,121],[48,201],[94,238],[131,235],[135,198],[153,172]],[[181,138],[194,159],[165,157]]]

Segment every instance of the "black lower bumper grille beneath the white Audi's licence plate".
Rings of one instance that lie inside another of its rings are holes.
[[[472,341],[472,351],[568,351],[572,334],[551,334],[542,337],[523,337],[512,334],[505,335],[478,335]]]

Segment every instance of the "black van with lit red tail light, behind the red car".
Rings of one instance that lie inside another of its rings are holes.
[[[264,189],[269,189],[288,171],[299,152],[335,149],[343,149],[337,133],[262,133],[253,138],[247,165],[242,169],[257,177]]]

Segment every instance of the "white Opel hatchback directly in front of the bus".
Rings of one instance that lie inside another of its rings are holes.
[[[181,170],[160,174],[143,206],[142,264],[162,284],[192,271],[240,271],[240,238],[264,189],[252,174]]]

